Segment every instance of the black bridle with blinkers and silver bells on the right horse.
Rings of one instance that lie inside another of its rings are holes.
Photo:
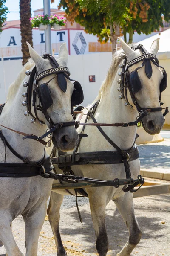
[[[160,67],[163,69],[164,77],[160,84],[160,95],[159,95],[159,102],[160,105],[163,105],[161,103],[161,92],[164,91],[167,87],[167,73],[164,69],[164,67],[159,66],[159,61],[156,57],[156,55],[148,53],[144,47],[139,44],[137,47],[132,47],[133,50],[140,49],[140,51],[143,53],[142,56],[139,56],[138,58],[133,59],[132,61],[128,62],[127,56],[125,57],[124,63],[119,64],[119,68],[122,68],[122,72],[119,72],[118,75],[120,76],[120,79],[118,80],[118,84],[120,84],[120,87],[118,87],[118,91],[120,91],[122,94],[119,95],[119,99],[125,99],[125,106],[130,106],[133,108],[133,106],[129,103],[128,97],[127,97],[127,89],[130,92],[131,99],[133,101],[133,104],[136,106],[137,111],[139,112],[139,115],[141,115],[144,111],[148,110],[149,112],[156,112],[161,111],[162,109],[165,109],[165,112],[163,116],[165,116],[168,113],[168,108],[141,108],[139,103],[136,100],[135,94],[139,92],[139,90],[142,89],[141,81],[138,76],[138,70],[145,66],[145,73],[147,77],[150,79],[152,76],[152,66],[151,61],[153,62],[156,67]],[[142,62],[142,64],[136,68],[135,71],[132,71],[129,73],[128,69],[129,67],[132,67],[134,64],[138,62]]]

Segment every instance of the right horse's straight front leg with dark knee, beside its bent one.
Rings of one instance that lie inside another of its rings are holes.
[[[91,217],[96,234],[96,249],[99,256],[106,256],[109,246],[105,223],[106,201],[107,199],[104,196],[103,198],[99,198],[99,194],[89,194]]]

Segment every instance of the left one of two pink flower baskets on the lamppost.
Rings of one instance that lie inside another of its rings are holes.
[[[38,27],[39,30],[47,29],[47,25],[50,24],[50,18],[48,15],[37,15],[35,17],[30,18],[30,23],[32,28]]]

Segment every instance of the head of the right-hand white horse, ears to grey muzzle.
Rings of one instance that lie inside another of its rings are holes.
[[[121,38],[119,38],[119,40],[122,43],[122,49],[127,55],[128,62],[144,55],[140,49],[133,50]],[[153,41],[149,53],[156,55],[158,50],[159,38]],[[144,60],[142,59],[140,62],[134,62],[134,64],[127,70],[129,78],[130,74],[133,74],[133,77],[131,77],[131,79],[133,79],[133,84],[131,84],[133,88],[131,92],[133,91],[137,106],[140,106],[141,109],[158,108],[160,107],[160,86],[161,81],[164,82],[164,73],[162,72],[162,68],[156,65],[157,60],[155,61],[152,59],[152,61],[150,61],[147,59],[143,66],[140,67],[143,61]],[[138,69],[138,67],[140,68]],[[129,103],[135,108],[134,100],[131,99],[131,96],[129,90],[127,90]],[[164,125],[164,116],[162,112],[160,110],[150,112],[142,119],[142,125],[147,133],[159,134]]]

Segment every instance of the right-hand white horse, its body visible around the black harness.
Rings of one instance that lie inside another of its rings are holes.
[[[99,91],[99,95],[95,101],[100,99],[100,103],[96,108],[95,118],[98,123],[116,123],[116,122],[132,122],[139,116],[135,105],[133,104],[130,93],[127,91],[129,103],[133,106],[125,107],[124,99],[119,99],[119,92],[117,91],[117,81],[120,79],[118,71],[122,71],[118,64],[124,61],[125,55],[128,58],[128,62],[142,55],[139,49],[131,49],[125,42],[120,38],[122,43],[122,49],[115,53],[113,61],[108,70],[105,81]],[[151,48],[150,53],[156,55],[159,49],[159,39],[156,39]],[[154,62],[154,61],[153,61]],[[160,107],[159,102],[159,86],[163,79],[163,73],[159,67],[151,62],[153,75],[150,79],[146,76],[145,69],[140,68],[138,70],[139,79],[142,84],[142,89],[136,94],[136,100],[141,108],[158,108]],[[132,72],[139,67],[142,62],[136,63],[131,66],[128,72]],[[137,86],[137,84],[135,84]],[[90,109],[92,105],[87,108]],[[85,119],[85,117],[83,118]],[[84,120],[82,119],[81,122]],[[93,122],[89,117],[88,122]],[[143,118],[143,126],[149,134],[158,134],[164,125],[164,117],[161,111],[150,112],[149,115]],[[105,133],[116,145],[122,150],[127,150],[133,146],[135,141],[137,127],[102,127]],[[82,130],[82,126],[78,128],[78,131]],[[94,152],[94,151],[114,151],[110,143],[102,136],[99,130],[94,126],[86,126],[85,134],[88,134],[87,138],[81,140],[78,153],[82,152]],[[130,161],[130,172],[133,179],[136,179],[140,172],[140,161],[139,158]],[[99,180],[114,180],[115,178],[124,179],[125,169],[122,163],[120,164],[91,164],[91,165],[76,165],[71,166],[74,175],[91,177]],[[57,172],[62,172],[57,169]],[[55,182],[57,183],[57,182]],[[74,189],[69,191],[75,195]],[[99,256],[106,256],[108,251],[108,236],[105,225],[105,207],[109,201],[113,200],[116,207],[119,209],[122,218],[129,230],[129,239],[121,252],[117,256],[129,256],[134,247],[139,243],[141,238],[141,230],[139,229],[138,222],[134,214],[133,207],[133,195],[130,192],[123,192],[122,187],[115,188],[109,187],[98,187],[98,188],[86,188],[85,192],[88,194],[91,216],[94,224],[96,233],[96,249]],[[57,256],[66,256],[67,253],[62,245],[60,233],[59,233],[59,208],[62,204],[63,195],[67,194],[64,189],[53,190],[51,192],[51,202],[48,207],[49,221],[54,233],[55,242],[57,245]]]

